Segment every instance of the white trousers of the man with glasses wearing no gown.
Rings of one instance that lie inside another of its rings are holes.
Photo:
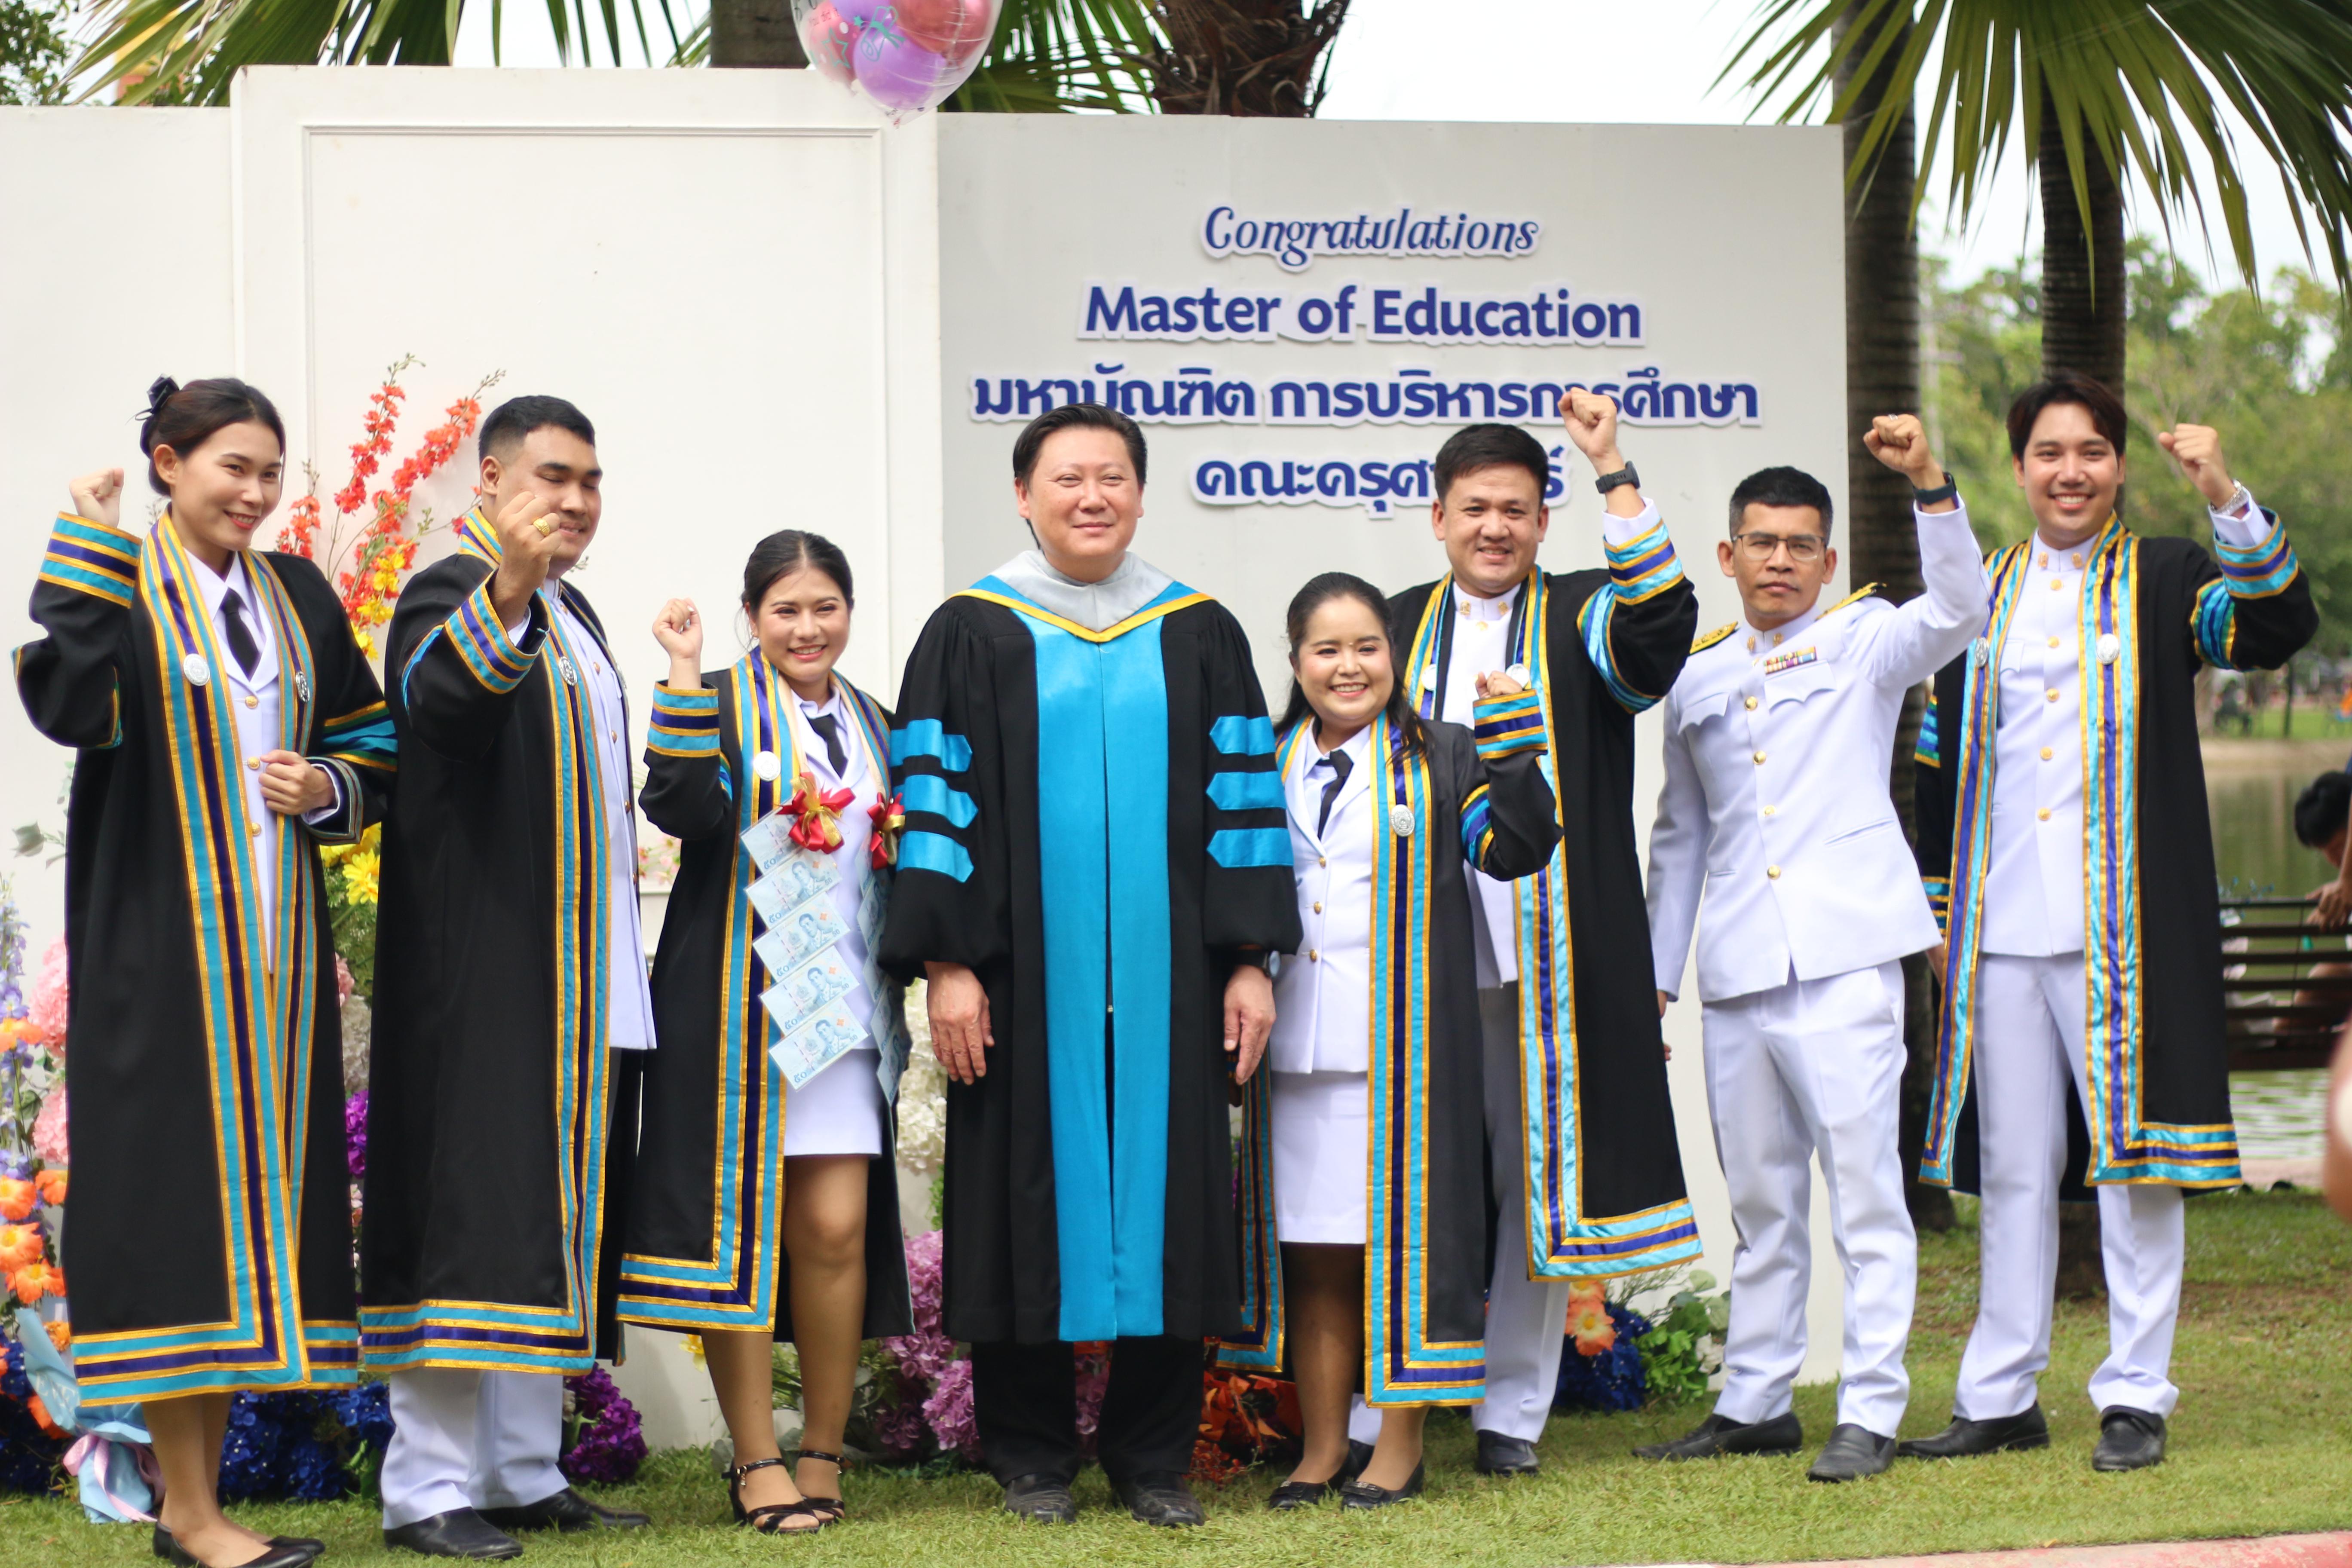
[[[1903,1201],[1903,964],[1788,980],[1705,1004],[1708,1114],[1731,1190],[1731,1326],[1715,1413],[1790,1408],[1811,1288],[1811,1161],[1830,1190],[1846,1274],[1837,1420],[1896,1436],[1919,1246]]]

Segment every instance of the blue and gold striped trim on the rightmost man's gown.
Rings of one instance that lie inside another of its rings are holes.
[[[1969,1093],[1969,1070],[1978,1020],[1978,947],[1985,922],[1985,872],[1992,858],[1992,755],[1999,729],[2002,642],[2025,588],[2032,538],[2009,545],[1992,562],[1990,632],[1969,651],[1957,748],[1950,722],[1938,717],[1940,762],[1950,762],[1955,785],[1950,947],[1943,990],[1943,1030],[1936,1041],[1936,1084],[1929,1098],[1926,1150],[1919,1180],[1952,1185],[1952,1150],[1959,1110]],[[2274,529],[2263,550],[2227,552],[2284,557],[2293,576],[2293,552]],[[2140,1114],[2145,1063],[2140,985],[2140,541],[2119,520],[2091,538],[2082,576],[2077,621],[2082,682],[2082,830],[2084,830],[2084,1056],[2091,1103],[2091,1182],[2169,1182],[2180,1187],[2234,1187],[2237,1128],[2230,1121],[2180,1126]],[[2277,571],[2277,564],[2272,564]],[[2256,574],[2251,595],[2265,583]],[[2230,611],[2234,578],[2209,583],[2192,611],[2190,632],[2211,663],[2225,663],[2234,637]],[[2218,592],[2216,592],[2218,590]],[[2277,592],[2277,588],[2270,588]],[[2216,604],[2218,599],[2218,604]],[[2117,642],[2112,661],[2098,656],[2103,637]],[[1931,882],[1933,889],[1933,882]]]

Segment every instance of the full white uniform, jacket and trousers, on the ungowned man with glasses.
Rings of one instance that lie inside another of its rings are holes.
[[[1837,1420],[1893,1436],[1910,1399],[1917,1246],[1896,1147],[1903,964],[1936,917],[1886,790],[1903,696],[1985,628],[1969,515],[1917,512],[1926,592],[1733,623],[1665,698],[1649,839],[1658,990],[1698,929],[1708,1110],[1738,1248],[1717,1415],[1771,1420],[1804,1363],[1809,1161],[1846,1272]],[[1700,919],[1700,905],[1705,917]]]

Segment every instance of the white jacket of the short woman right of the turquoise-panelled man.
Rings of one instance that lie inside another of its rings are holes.
[[[1331,762],[1315,752],[1312,733],[1282,780],[1301,940],[1275,976],[1275,1034],[1265,1041],[1275,1072],[1371,1072],[1371,846],[1374,827],[1388,832],[1388,811],[1371,799],[1371,729],[1338,750],[1348,783],[1322,832],[1315,818]]]

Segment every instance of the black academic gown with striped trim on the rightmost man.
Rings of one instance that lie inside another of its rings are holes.
[[[2230,1046],[2223,1037],[2220,893],[2197,743],[2197,668],[2274,670],[2319,630],[2284,527],[2253,550],[2143,538],[2122,522],[2091,541],[2082,578],[2086,1107],[2070,1088],[2067,1187],[2234,1187]],[[1919,875],[1945,924],[1936,1086],[1919,1180],[1978,1187],[1976,961],[1992,851],[1994,654],[2032,541],[1987,559],[1987,637],[1936,672],[1919,733]],[[2110,642],[2103,642],[2110,639]],[[2103,651],[2112,646],[2114,661]],[[2072,1081],[2070,1081],[2072,1084]]]

